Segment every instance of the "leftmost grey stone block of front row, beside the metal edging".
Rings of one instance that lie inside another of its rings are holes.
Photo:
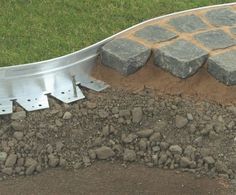
[[[115,39],[101,49],[102,64],[129,75],[143,67],[151,49],[129,39]]]

